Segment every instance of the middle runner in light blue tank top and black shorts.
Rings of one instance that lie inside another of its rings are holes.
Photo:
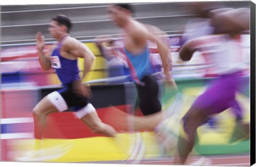
[[[153,66],[149,58],[148,41],[157,45],[165,74],[165,86],[169,90],[177,91],[174,79],[171,74],[172,59],[169,49],[169,38],[162,30],[155,26],[145,25],[132,16],[133,8],[130,4],[112,4],[107,8],[109,18],[122,29],[121,37],[124,39],[124,47],[118,48],[116,52],[125,55],[130,69],[130,78],[137,87],[140,99],[140,110],[144,117],[134,116],[131,119],[134,130],[150,129],[155,130],[157,124],[163,119],[162,106],[158,99],[158,84]],[[106,41],[109,40],[106,38]],[[115,110],[113,108],[113,110]],[[118,112],[118,111],[116,111]],[[129,115],[130,116],[130,115]],[[113,118],[115,119],[115,118]],[[125,122],[125,119],[118,118],[116,122]]]

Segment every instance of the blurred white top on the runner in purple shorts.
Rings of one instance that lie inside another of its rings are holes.
[[[193,47],[209,56],[219,74],[242,70],[242,48],[238,39],[228,35],[209,35],[194,39]]]

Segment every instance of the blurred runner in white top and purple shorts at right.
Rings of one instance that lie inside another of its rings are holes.
[[[174,157],[174,164],[185,164],[195,143],[196,130],[213,114],[225,111],[229,107],[239,106],[236,102],[236,91],[240,91],[246,80],[243,78],[241,65],[241,44],[239,34],[249,30],[249,9],[205,9],[197,4],[197,12],[205,21],[197,27],[198,35],[187,39],[182,45],[179,56],[183,61],[189,61],[196,51],[206,52],[216,66],[215,73],[219,74],[207,90],[196,98],[188,112],[181,119],[182,135],[178,138],[178,150]],[[202,35],[202,31],[205,34]],[[200,33],[199,33],[200,32]],[[239,109],[239,107],[238,107]],[[234,110],[236,118],[242,119],[242,111]],[[242,123],[242,122],[240,122]],[[203,160],[194,165],[210,165]]]

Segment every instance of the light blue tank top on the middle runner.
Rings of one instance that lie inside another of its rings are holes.
[[[132,53],[128,52],[124,48],[124,52],[128,59],[130,60],[131,64],[133,65],[137,77],[139,80],[141,80],[143,77],[154,73],[154,68],[151,63],[151,60],[149,59],[149,48],[148,46],[145,47],[142,53],[139,55],[133,55]]]

